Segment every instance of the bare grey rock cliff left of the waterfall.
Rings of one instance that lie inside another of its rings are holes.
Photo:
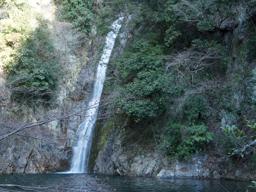
[[[72,155],[70,139],[74,139],[83,113],[65,120],[58,117],[84,109],[84,101],[92,90],[94,58],[92,52],[87,52],[87,42],[72,24],[54,19],[56,8],[50,0],[31,0],[30,3],[34,11],[50,20],[51,37],[64,76],[59,78],[55,96],[50,101],[20,103],[11,98],[0,63],[0,124],[5,125],[1,135],[9,133],[11,127],[17,129],[53,119],[0,141],[0,174],[67,171]]]

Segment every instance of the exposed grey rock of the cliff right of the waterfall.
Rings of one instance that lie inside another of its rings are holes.
[[[228,52],[232,55],[233,64],[228,66],[226,74],[232,74],[232,71],[236,70],[237,66],[245,59],[247,38],[245,29],[247,25],[243,20],[241,16],[240,20],[235,21],[235,24],[230,23],[230,26],[227,27],[232,30],[224,30],[217,34],[218,41],[225,44]],[[128,37],[128,35],[123,37]],[[125,47],[125,44],[122,47]],[[120,49],[116,48],[116,50]],[[111,70],[115,71],[115,69]],[[118,71],[115,73],[118,76]],[[240,104],[238,103],[238,105]],[[176,106],[178,108],[180,104],[176,104]],[[102,108],[102,111],[105,110]],[[127,125],[128,119],[126,119],[126,115],[122,116],[116,112],[107,122],[97,126],[95,143],[92,148],[92,172],[164,178],[253,178],[255,175],[255,172],[242,164],[241,160],[234,157],[224,158],[225,154],[219,150],[222,146],[218,146],[216,142],[212,142],[210,150],[195,154],[191,160],[170,160],[164,156],[164,152],[158,150],[159,135],[155,136],[154,129],[149,128],[152,126],[150,123],[145,123],[143,126],[143,122],[140,125],[130,122],[130,125]],[[109,122],[114,123],[111,123],[110,126]],[[236,123],[236,118],[232,114],[229,114],[228,118],[223,118],[221,122],[216,119],[208,122],[209,130],[215,133],[221,132],[221,126]],[[240,164],[240,167],[235,167],[235,164]]]

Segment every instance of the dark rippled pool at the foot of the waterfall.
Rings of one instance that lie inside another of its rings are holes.
[[[64,182],[74,184],[76,177],[83,174],[26,174],[2,175],[0,184],[19,184],[26,186],[54,185]],[[145,177],[109,176],[105,174],[89,174],[102,182],[108,176],[107,184],[116,192],[256,192],[251,182],[226,180],[198,180],[198,179],[162,179]]]

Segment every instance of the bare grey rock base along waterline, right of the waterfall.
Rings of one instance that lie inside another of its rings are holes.
[[[207,157],[207,154],[200,153],[190,162],[170,162],[158,150],[148,150],[136,144],[121,146],[120,138],[117,138],[105,143],[96,159],[94,172],[160,178],[208,177],[202,167]]]

